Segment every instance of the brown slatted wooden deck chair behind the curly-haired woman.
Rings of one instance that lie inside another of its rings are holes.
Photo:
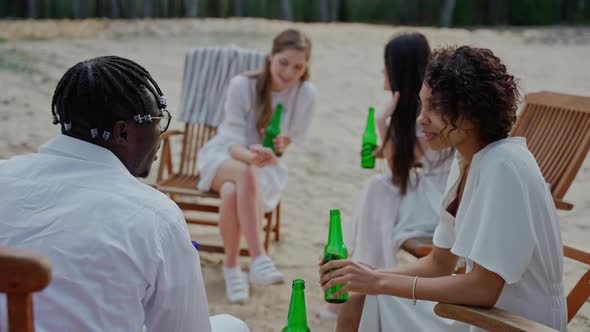
[[[563,200],[590,148],[590,97],[554,92],[531,93],[511,136],[524,136],[545,180],[555,206],[571,210]],[[416,257],[428,255],[432,238],[405,241],[401,248]]]

